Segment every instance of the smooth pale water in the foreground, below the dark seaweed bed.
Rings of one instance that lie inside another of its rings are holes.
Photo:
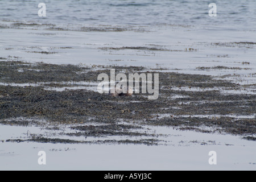
[[[1,170],[255,170],[256,143],[233,135],[180,131],[152,127],[168,142],[158,146],[138,144],[53,144],[1,142]],[[0,127],[0,137],[26,138],[44,133],[37,127]],[[73,139],[71,137],[71,139]],[[92,139],[92,138],[91,138]],[[99,138],[95,138],[99,139]],[[161,139],[161,138],[159,138]],[[197,142],[195,142],[197,141]],[[46,152],[46,165],[38,164],[38,152]],[[217,164],[210,165],[209,151]]]

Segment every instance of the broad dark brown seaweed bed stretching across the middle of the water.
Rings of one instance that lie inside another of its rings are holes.
[[[46,89],[61,88],[63,82],[73,82],[65,85],[70,88],[79,82],[99,82],[97,76],[100,73],[110,75],[110,68],[114,68],[116,74],[124,70],[126,75],[148,72],[143,67],[110,65],[100,68],[0,61],[0,123],[40,126],[55,131],[65,125],[70,126],[70,130],[62,135],[72,137],[139,138],[85,142],[34,134],[27,139],[7,139],[5,142],[158,144],[159,134],[142,132],[145,126],[152,125],[240,135],[243,139],[255,140],[255,94],[222,93],[217,88],[244,90],[246,85],[207,75],[154,70],[154,73],[159,73],[159,97],[156,100],[148,100],[147,94],[141,93],[130,97],[112,97],[91,89],[64,89],[61,92]]]

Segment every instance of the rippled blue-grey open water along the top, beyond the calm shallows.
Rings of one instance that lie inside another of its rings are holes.
[[[38,4],[46,4],[46,17],[38,16]],[[217,18],[209,18],[209,3],[216,3]],[[158,26],[221,26],[255,30],[256,2],[178,0],[47,0],[0,1],[0,22],[36,22],[68,26],[82,24],[130,24]]]

